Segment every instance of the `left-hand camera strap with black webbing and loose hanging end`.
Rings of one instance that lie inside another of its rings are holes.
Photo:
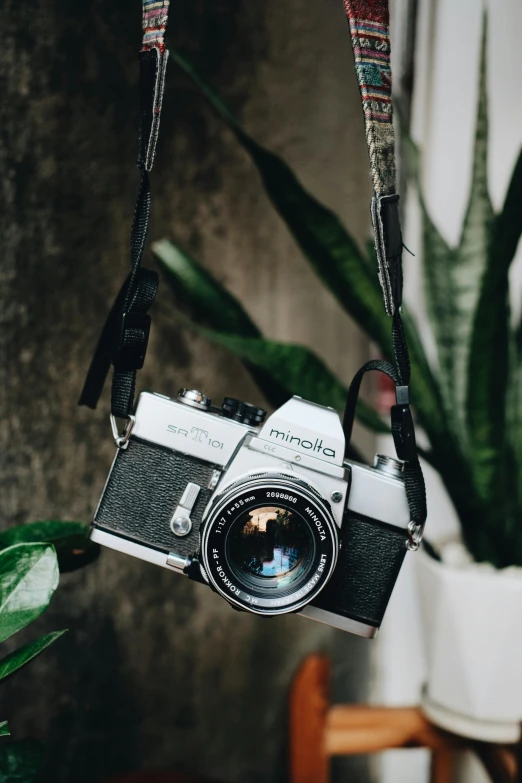
[[[118,445],[128,440],[134,423],[132,409],[136,373],[145,360],[150,331],[148,310],[158,289],[158,273],[142,269],[141,260],[150,217],[149,171],[154,164],[158,141],[168,59],[165,32],[169,2],[142,0],[143,43],[138,55],[140,127],[137,165],[140,182],[131,228],[131,270],[105,322],[79,400],[79,405],[96,408],[112,364],[111,423]],[[116,417],[127,419],[121,436],[118,435]]]

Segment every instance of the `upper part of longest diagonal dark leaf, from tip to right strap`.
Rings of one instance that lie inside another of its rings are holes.
[[[175,49],[170,53],[251,156],[273,206],[316,273],[352,318],[389,353],[390,323],[377,278],[339,218],[302,187],[281,158],[261,147],[241,128],[220,95],[191,63]]]

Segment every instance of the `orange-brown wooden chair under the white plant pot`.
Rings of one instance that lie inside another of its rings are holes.
[[[442,731],[417,707],[330,705],[330,662],[312,655],[290,693],[290,783],[328,783],[332,756],[428,748],[431,783],[451,783],[455,751],[472,750],[493,783],[522,783],[519,746],[473,742]],[[518,771],[517,771],[518,770]]]

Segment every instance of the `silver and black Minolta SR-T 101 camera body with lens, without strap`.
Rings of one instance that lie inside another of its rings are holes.
[[[406,553],[402,463],[347,462],[332,408],[293,397],[265,416],[197,391],[142,393],[91,537],[237,609],[373,637]]]

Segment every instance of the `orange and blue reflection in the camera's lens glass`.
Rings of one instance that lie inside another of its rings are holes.
[[[234,570],[258,579],[277,579],[278,586],[302,576],[314,550],[308,524],[299,514],[276,506],[246,512],[228,537]]]

